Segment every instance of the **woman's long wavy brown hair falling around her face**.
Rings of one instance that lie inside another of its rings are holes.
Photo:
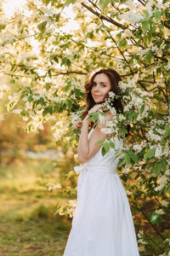
[[[82,119],[86,117],[90,108],[93,108],[94,105],[96,105],[96,103],[94,102],[94,98],[92,97],[91,90],[94,84],[94,78],[99,73],[105,73],[107,75],[111,83],[110,91],[113,91],[117,96],[120,96],[114,99],[111,106],[116,108],[117,113],[123,113],[122,94],[118,86],[119,81],[122,81],[121,76],[116,72],[115,69],[104,67],[104,68],[100,68],[98,71],[95,71],[94,73],[90,73],[88,82],[84,84],[84,88],[86,92],[85,94],[86,108],[84,110],[84,113],[82,113]],[[92,123],[92,125],[94,125],[94,123]],[[129,134],[129,130],[130,130],[130,125],[127,125],[128,134]]]

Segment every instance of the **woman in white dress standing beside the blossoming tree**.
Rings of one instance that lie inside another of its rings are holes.
[[[88,133],[92,120],[87,113],[97,112],[109,91],[120,95],[120,80],[114,69],[102,68],[85,84],[87,108],[78,143],[78,161],[85,165],[75,167],[75,171],[80,171],[77,207],[64,256],[139,256],[132,213],[116,173],[115,148],[101,154],[96,143],[108,137],[100,130],[101,124],[95,124]],[[122,112],[120,97],[113,105],[117,112]],[[111,112],[105,112],[102,128],[111,119]],[[122,139],[117,140],[116,148],[122,148],[122,143]]]

